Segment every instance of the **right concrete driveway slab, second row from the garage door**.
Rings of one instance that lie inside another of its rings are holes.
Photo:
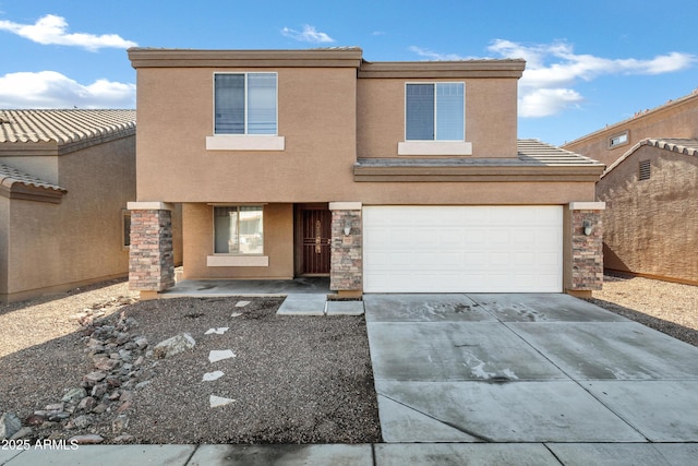
[[[509,323],[575,380],[698,380],[698,348],[636,322]]]

